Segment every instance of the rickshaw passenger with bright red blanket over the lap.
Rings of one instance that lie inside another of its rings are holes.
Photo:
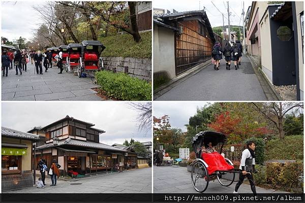
[[[201,158],[208,165],[206,169],[209,175],[216,171],[228,171],[234,169],[234,166],[230,165],[225,158],[215,150],[212,143],[208,143],[208,147],[205,151],[202,148]]]

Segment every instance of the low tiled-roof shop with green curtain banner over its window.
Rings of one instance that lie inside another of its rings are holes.
[[[1,174],[2,190],[33,186],[32,145],[39,136],[2,127]]]

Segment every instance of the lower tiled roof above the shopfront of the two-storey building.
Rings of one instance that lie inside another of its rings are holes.
[[[68,138],[67,140],[64,140],[64,141],[59,141],[57,146],[64,146],[64,145],[126,152],[126,150],[119,149],[119,148],[116,148],[116,147],[112,147],[112,146],[109,146],[109,145],[106,145],[106,144],[103,144],[103,143],[95,143],[95,142],[74,140],[74,139],[70,139],[70,138]],[[50,148],[50,147],[54,147],[53,143],[42,145],[40,147],[37,147],[37,149],[46,149],[46,148]]]

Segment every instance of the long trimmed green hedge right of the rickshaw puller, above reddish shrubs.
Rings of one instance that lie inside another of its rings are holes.
[[[303,160],[303,136],[285,136],[284,140],[271,140],[266,143],[266,160]]]

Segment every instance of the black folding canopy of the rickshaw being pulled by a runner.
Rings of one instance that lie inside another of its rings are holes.
[[[192,140],[192,146],[197,157],[200,157],[200,147],[207,147],[208,143],[219,148],[219,153],[222,152],[223,145],[227,142],[225,134],[214,131],[203,131],[196,134]]]

